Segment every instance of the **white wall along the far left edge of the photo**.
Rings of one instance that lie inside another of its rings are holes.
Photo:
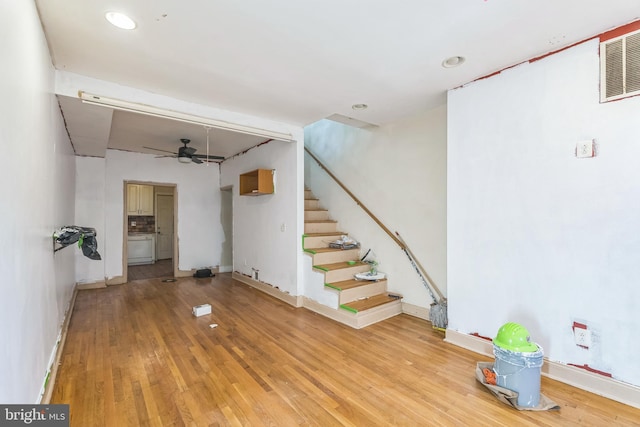
[[[74,250],[53,253],[74,220],[73,152],[33,2],[0,8],[0,402],[40,399],[74,287]]]

